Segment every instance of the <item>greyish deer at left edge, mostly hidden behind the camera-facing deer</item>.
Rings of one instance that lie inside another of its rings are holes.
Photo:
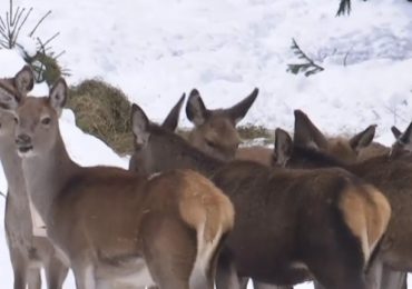
[[[24,67],[13,78],[0,79],[0,96],[23,98],[33,87],[33,74]],[[6,238],[14,272],[14,289],[40,289],[41,267],[45,268],[47,287],[60,289],[68,269],[56,257],[50,241],[33,235],[30,201],[27,195],[21,160],[14,143],[14,119],[0,110],[0,159],[8,181],[6,201]]]

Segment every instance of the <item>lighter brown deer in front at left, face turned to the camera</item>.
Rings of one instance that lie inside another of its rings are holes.
[[[60,79],[49,97],[2,96],[0,103],[14,111],[28,192],[77,288],[212,289],[234,221],[228,198],[190,170],[146,178],[75,163],[58,124],[67,93]]]

